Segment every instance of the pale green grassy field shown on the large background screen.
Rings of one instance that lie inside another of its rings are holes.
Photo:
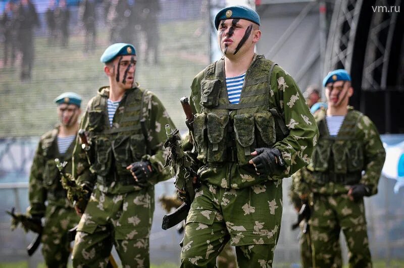
[[[179,98],[189,95],[193,77],[209,64],[205,21],[178,21],[160,26],[160,64],[142,60],[144,44],[136,47],[136,80],[155,92],[177,127],[184,129]],[[95,53],[84,55],[84,36],[71,36],[69,46],[48,46],[46,37],[35,39],[32,80],[20,82],[20,60],[15,67],[0,68],[0,137],[38,136],[57,123],[53,99],[65,91],[83,96],[83,108],[96,90],[108,84],[99,62],[108,46],[107,30],[99,29]],[[140,38],[141,39],[141,38]],[[3,47],[0,46],[3,56]]]

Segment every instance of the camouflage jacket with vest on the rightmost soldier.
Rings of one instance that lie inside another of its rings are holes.
[[[350,185],[361,183],[376,194],[386,154],[375,125],[348,106],[348,113],[333,138],[328,133],[326,112],[322,109],[315,114],[320,137],[309,166],[292,177],[296,192],[346,194]]]

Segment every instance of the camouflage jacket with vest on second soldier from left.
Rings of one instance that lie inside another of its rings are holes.
[[[163,169],[163,143],[166,140],[164,126],[170,124],[174,127],[174,124],[161,101],[137,85],[128,89],[111,127],[108,96],[109,87],[102,87],[87,104],[80,128],[88,133],[91,150],[87,158],[81,146],[77,146],[77,140],[73,154],[73,177],[79,184],[92,186],[97,182],[99,190],[105,193],[131,192],[140,188],[126,167],[133,162],[148,160],[155,171],[155,175],[149,179],[150,184],[169,179],[169,171]],[[148,142],[141,130],[140,121],[143,119]]]

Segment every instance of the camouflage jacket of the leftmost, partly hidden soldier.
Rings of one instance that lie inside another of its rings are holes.
[[[66,197],[66,190],[60,182],[55,158],[59,158],[62,163],[67,161],[66,171],[69,171],[72,167],[71,159],[75,144],[72,142],[66,153],[60,154],[58,133],[59,127],[56,127],[46,132],[39,140],[29,176],[30,215],[42,217],[45,213],[45,201],[48,201],[48,205],[71,207]]]

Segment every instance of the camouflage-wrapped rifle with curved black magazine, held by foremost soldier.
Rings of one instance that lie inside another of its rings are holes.
[[[185,191],[185,202],[173,212],[163,217],[162,229],[167,230],[181,221],[185,220],[190,209],[190,204],[195,197],[193,178],[196,176],[194,167],[196,166],[192,156],[184,152],[179,144],[181,138],[178,130],[171,130],[170,125],[166,125],[167,141],[164,147],[169,149],[164,167],[170,166],[171,175],[175,178],[175,186]]]

